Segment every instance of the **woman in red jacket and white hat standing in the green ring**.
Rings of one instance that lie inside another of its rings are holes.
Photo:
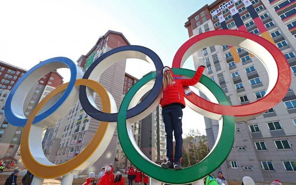
[[[182,169],[182,109],[185,108],[184,87],[195,85],[200,80],[205,66],[198,67],[192,79],[174,78],[170,67],[162,69],[163,74],[163,98],[160,101],[162,107],[163,122],[165,124],[166,153],[168,161],[161,164],[163,168]],[[173,157],[173,131],[176,141],[175,157]]]

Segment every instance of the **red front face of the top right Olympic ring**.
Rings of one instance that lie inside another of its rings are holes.
[[[278,104],[287,94],[291,85],[291,70],[284,54],[268,40],[257,36],[255,34],[238,31],[238,30],[215,30],[197,35],[186,41],[177,51],[172,68],[181,68],[181,60],[185,52],[198,41],[217,35],[234,35],[242,38],[247,38],[263,46],[276,61],[278,68],[278,77],[274,88],[266,96],[253,103],[239,105],[239,106],[224,106],[207,101],[200,96],[192,93],[187,96],[187,100],[206,111],[228,116],[250,116],[266,112],[270,108]],[[279,67],[281,66],[281,67]],[[270,75],[269,75],[270,76]]]

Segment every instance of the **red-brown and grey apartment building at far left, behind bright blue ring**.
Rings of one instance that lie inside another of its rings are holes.
[[[10,90],[14,84],[19,80],[27,70],[21,69],[17,66],[0,62],[0,158],[12,157],[17,159],[14,168],[24,168],[20,158],[20,139],[22,136],[23,127],[13,126],[5,119],[4,105],[6,97],[9,95]],[[38,80],[30,92],[28,93],[24,103],[24,114],[26,117],[30,115],[39,101],[51,92],[54,88],[63,83],[62,77],[57,71],[52,71]],[[11,163],[12,161],[10,161]]]

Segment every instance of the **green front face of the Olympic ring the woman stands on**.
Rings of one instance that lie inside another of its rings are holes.
[[[181,68],[173,69],[173,72],[174,74],[184,75],[190,78],[192,78],[195,74],[195,71]],[[215,171],[228,157],[235,138],[234,116],[223,116],[223,128],[221,137],[220,139],[218,138],[218,144],[213,149],[211,154],[204,158],[200,163],[177,171],[173,169],[161,168],[159,165],[149,162],[137,152],[128,136],[126,126],[126,111],[128,110],[131,99],[143,85],[152,79],[155,79],[155,77],[156,73],[154,72],[140,79],[128,91],[121,103],[117,122],[118,138],[121,147],[133,165],[157,181],[168,184],[188,184],[195,182]],[[214,94],[221,105],[230,106],[225,93],[215,82],[213,82],[213,80],[202,75],[199,82],[205,85]]]

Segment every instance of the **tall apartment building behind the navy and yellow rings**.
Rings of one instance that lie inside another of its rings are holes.
[[[126,45],[130,45],[130,43],[122,33],[109,30],[98,39],[94,47],[86,55],[81,55],[77,60],[77,65],[85,72],[93,61],[102,54],[111,49]],[[118,61],[104,71],[98,81],[112,94],[118,110],[123,93],[125,67],[126,60]],[[95,103],[102,110],[98,95],[96,95]],[[46,152],[46,157],[54,164],[65,163],[74,158],[91,141],[99,128],[99,124],[100,121],[86,114],[78,101],[70,112],[57,122],[55,132]],[[102,167],[107,168],[110,163],[114,165],[117,143],[118,135],[117,130],[115,130],[113,138],[102,156],[82,173],[99,173]]]

